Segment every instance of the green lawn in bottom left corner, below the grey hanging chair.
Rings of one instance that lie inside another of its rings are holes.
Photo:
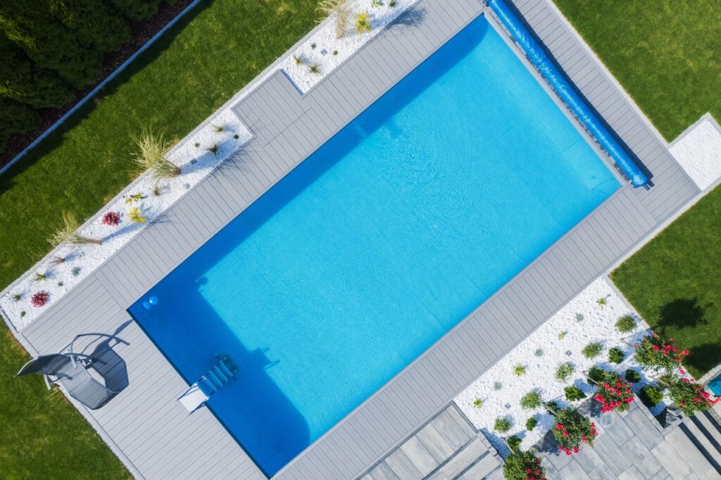
[[[0,466],[4,479],[131,479],[65,396],[40,375],[12,378],[30,360],[0,330]]]

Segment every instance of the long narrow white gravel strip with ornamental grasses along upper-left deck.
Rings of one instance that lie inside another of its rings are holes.
[[[71,288],[80,283],[94,269],[99,267],[112,254],[128,243],[145,226],[157,218],[170,205],[177,201],[191,187],[207,176],[222,161],[252,138],[252,133],[238,120],[231,107],[247,96],[252,90],[276,71],[283,70],[296,85],[299,92],[305,93],[316,86],[356,50],[379,34],[384,27],[393,22],[417,0],[383,0],[373,4],[373,0],[351,1],[351,15],[348,31],[342,38],[336,38],[335,19],[329,19],[319,25],[296,50],[288,51],[286,56],[268,68],[236,95],[232,102],[224,105],[211,115],[211,121],[197,133],[184,138],[168,158],[182,167],[182,174],[175,179],[160,183],[161,195],[154,195],[156,182],[147,174],[141,176],[129,187],[123,197],[112,204],[105,205],[99,215],[87,223],[79,233],[93,239],[102,239],[102,245],[61,245],[53,251],[52,257],[25,272],[22,280],[6,290],[0,298],[0,310],[19,331],[43,314],[48,306],[58,301]],[[357,34],[355,19],[359,13],[368,14],[372,30]],[[301,58],[301,63],[296,62]],[[311,66],[317,66],[317,73],[311,72]],[[216,126],[224,125],[224,130],[216,131]],[[235,136],[237,138],[235,138]],[[207,151],[218,144],[217,154]],[[143,198],[134,200],[131,195],[140,194]],[[126,200],[129,203],[126,203]],[[128,219],[132,208],[141,208],[146,223],[133,223]],[[118,226],[102,223],[102,215],[112,211],[121,216]],[[58,212],[60,215],[60,212]],[[53,259],[65,259],[54,264]],[[37,280],[36,274],[45,275],[45,280]],[[48,293],[48,301],[43,306],[33,306],[32,295],[38,292]]]

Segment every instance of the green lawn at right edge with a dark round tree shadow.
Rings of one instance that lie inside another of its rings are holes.
[[[721,363],[721,187],[716,187],[611,274],[658,332],[691,350],[699,378]]]

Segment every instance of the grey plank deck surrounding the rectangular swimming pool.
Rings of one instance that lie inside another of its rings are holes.
[[[653,187],[633,189],[624,182],[275,478],[337,480],[366,472],[699,194],[555,7],[547,0],[513,4],[640,159]],[[131,321],[127,308],[484,8],[479,0],[420,0],[304,96],[284,74],[271,76],[234,109],[255,135],[252,141],[17,334],[30,351],[43,353],[84,332],[117,331],[128,342],[116,349],[125,360],[128,387],[97,411],[79,410],[138,478],[265,475],[208,409],[189,417],[175,401],[187,383]]]

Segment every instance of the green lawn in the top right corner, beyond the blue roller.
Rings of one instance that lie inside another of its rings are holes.
[[[660,133],[721,121],[718,0],[554,0]]]

